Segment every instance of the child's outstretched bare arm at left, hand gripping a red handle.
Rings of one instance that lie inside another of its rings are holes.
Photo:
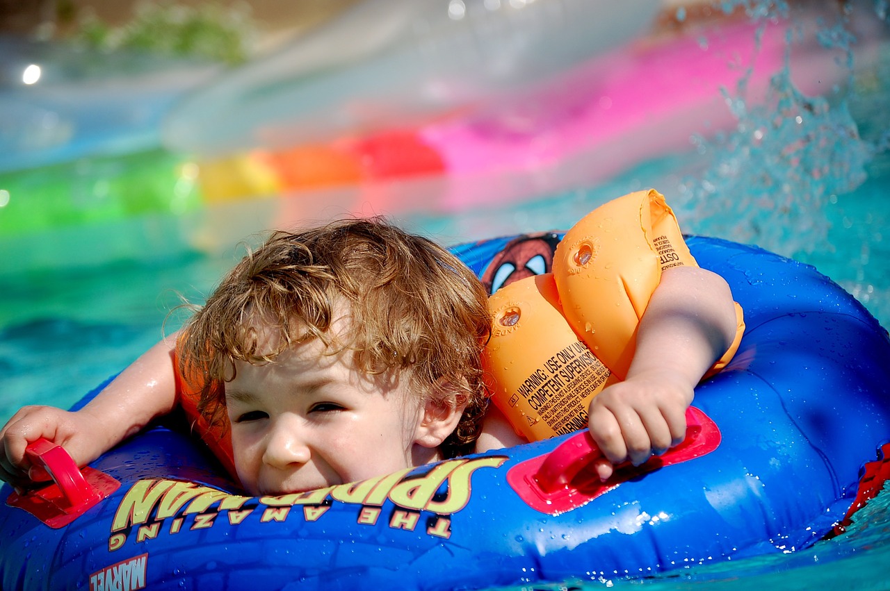
[[[151,347],[80,411],[25,406],[16,412],[0,430],[0,479],[22,488],[49,478],[25,458],[28,443],[40,437],[61,445],[78,466],[85,466],[171,411],[176,400],[176,336]]]

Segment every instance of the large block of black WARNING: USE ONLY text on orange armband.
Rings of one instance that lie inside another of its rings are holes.
[[[590,349],[576,341],[532,371],[513,398],[522,396],[557,433],[570,433],[587,425],[587,409],[582,402],[602,387],[609,375]]]

